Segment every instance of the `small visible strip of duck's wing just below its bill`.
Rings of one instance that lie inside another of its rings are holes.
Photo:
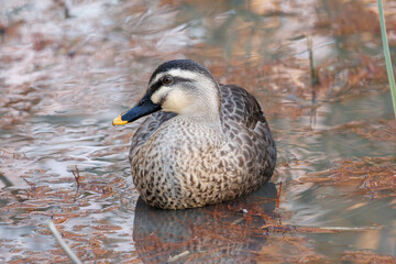
[[[174,117],[176,117],[176,113],[163,111],[148,116],[133,135],[131,150],[144,144],[144,142],[148,140],[148,138],[161,127],[161,124]]]

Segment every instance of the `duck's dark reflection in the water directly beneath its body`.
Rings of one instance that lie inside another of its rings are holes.
[[[139,198],[133,240],[144,263],[249,263],[266,241],[276,187],[267,183],[235,201],[188,210],[161,210]]]

